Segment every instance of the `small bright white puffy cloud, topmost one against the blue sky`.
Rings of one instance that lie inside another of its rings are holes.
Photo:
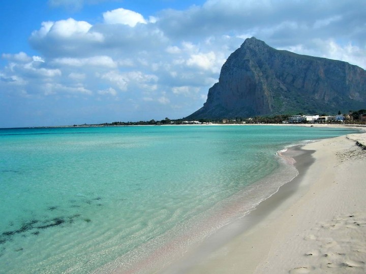
[[[107,11],[103,13],[103,18],[106,24],[124,24],[131,27],[138,23],[147,23],[141,14],[123,8]]]

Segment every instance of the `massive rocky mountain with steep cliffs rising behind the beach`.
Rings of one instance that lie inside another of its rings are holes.
[[[366,71],[347,62],[276,50],[247,39],[187,119],[329,113],[366,107]]]

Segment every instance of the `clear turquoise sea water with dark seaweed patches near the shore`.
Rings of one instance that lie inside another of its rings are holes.
[[[0,129],[0,273],[148,272],[297,175],[298,126]]]

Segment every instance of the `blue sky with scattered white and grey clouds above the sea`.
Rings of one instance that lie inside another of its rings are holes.
[[[184,118],[247,38],[366,68],[364,0],[1,0],[0,128]]]

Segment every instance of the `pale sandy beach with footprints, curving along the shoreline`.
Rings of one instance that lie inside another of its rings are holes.
[[[288,151],[299,176],[179,273],[365,273],[366,133]],[[210,241],[210,239],[208,239]],[[215,241],[215,239],[211,239]],[[215,246],[215,245],[214,245]],[[187,262],[187,261],[186,261]],[[183,263],[183,262],[182,262]]]

